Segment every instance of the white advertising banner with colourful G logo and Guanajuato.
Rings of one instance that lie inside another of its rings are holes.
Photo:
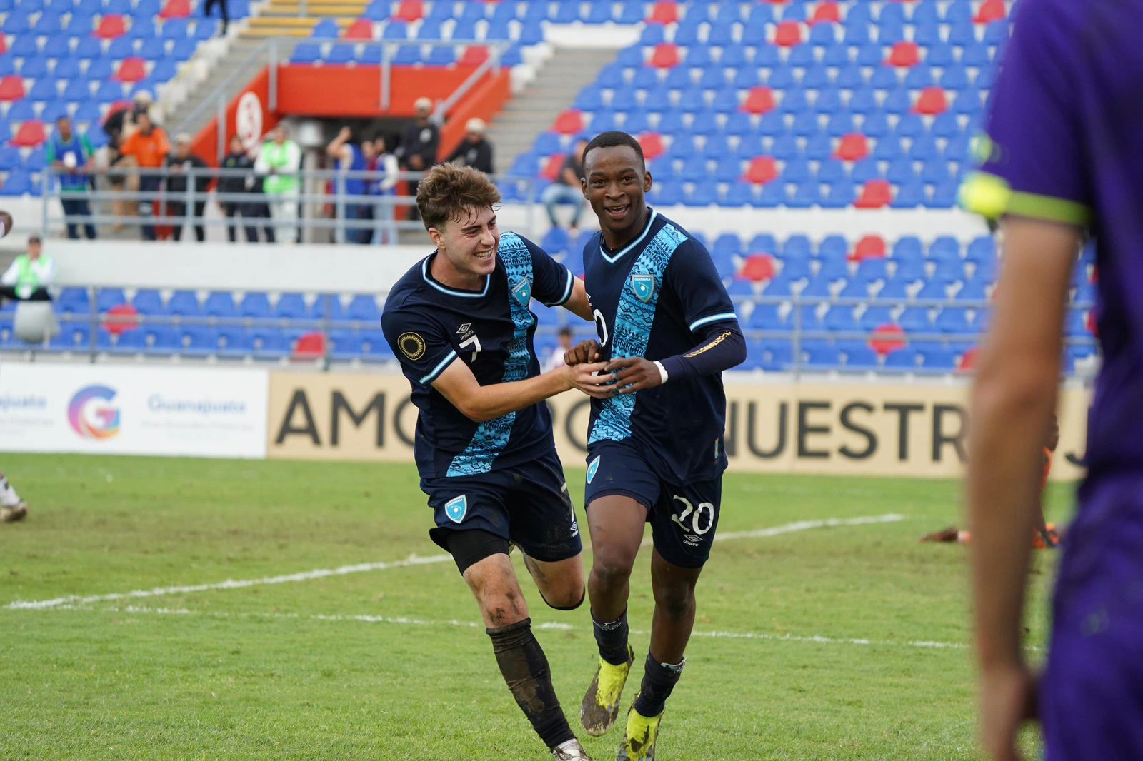
[[[0,366],[0,450],[266,456],[267,373],[123,365]]]

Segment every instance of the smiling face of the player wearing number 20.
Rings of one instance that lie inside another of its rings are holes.
[[[596,147],[583,166],[583,194],[599,217],[604,240],[623,246],[642,230],[650,173],[629,145]]]

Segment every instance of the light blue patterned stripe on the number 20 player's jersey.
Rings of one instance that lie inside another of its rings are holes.
[[[612,359],[623,357],[644,357],[647,353],[647,342],[650,339],[650,327],[655,322],[655,307],[658,294],[663,287],[663,273],[671,263],[671,255],[687,237],[672,225],[664,225],[647,243],[639,258],[631,265],[623,289],[620,291],[620,303],[615,309],[615,327],[612,337]],[[637,277],[654,278],[650,296],[644,301],[636,295]],[[636,396],[623,394],[605,399],[591,426],[589,443],[597,441],[623,441],[631,435],[631,414],[636,408]]]

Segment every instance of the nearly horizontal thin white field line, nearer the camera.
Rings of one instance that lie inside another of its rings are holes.
[[[362,624],[393,624],[399,626],[450,626],[457,628],[483,628],[479,622],[457,620],[429,620],[424,618],[410,618],[407,616],[352,616],[352,615],[302,615],[281,612],[225,612],[225,611],[199,611],[186,608],[146,608],[139,606],[105,607],[96,608],[91,606],[62,604],[56,606],[56,610],[80,610],[91,612],[112,612],[131,615],[153,616],[202,616],[207,618],[289,618],[294,620],[319,620],[319,622],[350,622]],[[537,624],[536,630],[555,630],[561,632],[588,631],[585,626],[573,626],[560,622],[546,622]],[[631,630],[632,634],[648,636],[650,632]],[[796,642],[802,644],[847,644],[869,648],[910,648],[920,650],[965,650],[968,648],[962,642],[933,642],[926,640],[895,641],[895,640],[870,640],[864,638],[838,638],[822,635],[797,635],[797,634],[766,634],[761,632],[725,632],[725,631],[696,631],[692,636],[711,640],[756,640],[762,642]]]

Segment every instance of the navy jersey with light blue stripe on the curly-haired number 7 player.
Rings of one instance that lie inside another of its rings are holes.
[[[539,375],[530,299],[563,304],[572,296],[572,273],[515,233],[501,237],[496,271],[480,290],[433,280],[434,256],[393,286],[381,318],[421,411],[414,446],[421,478],[477,475],[543,456],[554,449],[546,404],[475,423],[432,382],[455,361],[466,362],[482,386]]]

